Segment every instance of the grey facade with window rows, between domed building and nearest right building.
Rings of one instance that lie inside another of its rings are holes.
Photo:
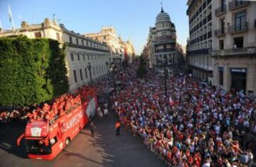
[[[214,0],[215,1],[215,0]],[[213,1],[188,0],[189,38],[186,50],[188,72],[212,83]]]

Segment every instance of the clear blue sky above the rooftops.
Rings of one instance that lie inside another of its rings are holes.
[[[177,39],[186,45],[188,38],[187,0],[0,0],[0,21],[9,29],[7,5],[11,6],[16,27],[21,21],[42,23],[44,18],[60,18],[68,30],[76,33],[96,33],[102,25],[113,25],[123,40],[131,40],[137,54],[142,52],[153,27],[156,15],[161,11],[169,13],[176,25]]]

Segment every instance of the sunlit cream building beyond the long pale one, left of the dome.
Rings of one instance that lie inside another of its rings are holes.
[[[102,27],[100,33],[87,33],[85,34],[85,37],[107,43],[110,47],[112,62],[117,66],[124,60],[132,63],[132,60],[135,57],[135,50],[132,42],[129,40],[123,41],[120,36],[117,37],[117,31],[113,26]]]

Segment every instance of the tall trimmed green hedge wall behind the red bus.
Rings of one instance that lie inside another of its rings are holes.
[[[0,38],[0,105],[31,105],[68,91],[65,47],[50,39]]]

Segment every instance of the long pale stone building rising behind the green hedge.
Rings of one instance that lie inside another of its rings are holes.
[[[89,84],[91,80],[99,79],[108,72],[109,47],[103,42],[70,31],[63,24],[57,25],[55,21],[46,18],[40,24],[28,25],[23,21],[20,29],[0,32],[0,37],[17,35],[26,35],[28,38],[51,38],[68,46],[65,63],[68,69],[70,91],[83,84]]]

